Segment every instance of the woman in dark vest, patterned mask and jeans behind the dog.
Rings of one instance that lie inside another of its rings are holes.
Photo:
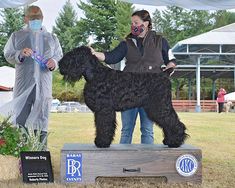
[[[92,53],[107,64],[115,64],[126,58],[126,72],[153,72],[162,71],[161,66],[166,65],[166,69],[175,67],[175,57],[173,56],[169,44],[161,35],[152,31],[152,22],[149,12],[146,10],[136,11],[131,17],[131,33],[126,39],[110,52]],[[163,70],[163,71],[164,71]],[[134,108],[121,113],[122,134],[121,144],[130,144],[132,134],[136,124],[136,118],[140,116],[141,143],[153,144],[153,122],[149,120],[143,108]]]

